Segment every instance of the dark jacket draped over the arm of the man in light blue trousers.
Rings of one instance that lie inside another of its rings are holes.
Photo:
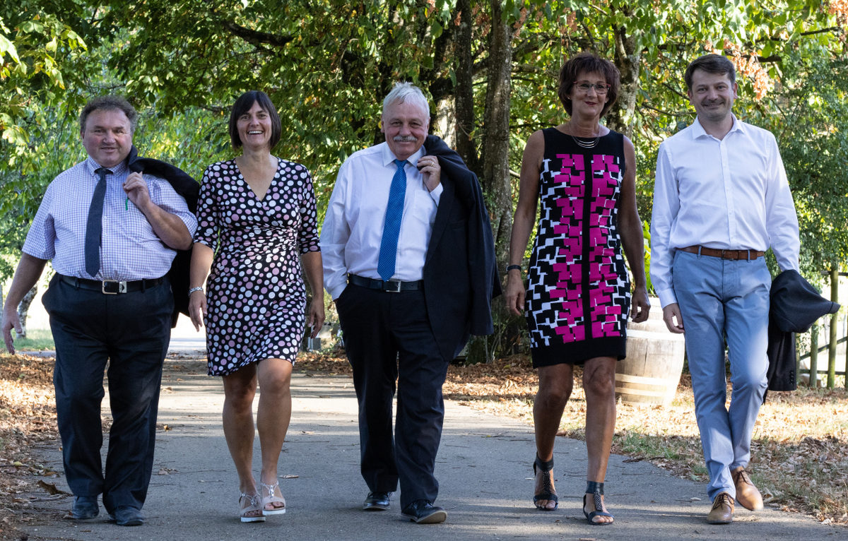
[[[768,310],[768,390],[794,391],[795,332],[807,332],[840,305],[823,298],[797,270],[784,270],[772,281]]]

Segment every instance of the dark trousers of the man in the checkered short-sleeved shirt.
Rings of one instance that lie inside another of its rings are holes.
[[[53,276],[43,303],[56,343],[53,385],[68,485],[76,496],[103,493],[109,513],[125,505],[141,509],[170,341],[170,284],[107,295]],[[107,360],[113,423],[104,475],[100,406]]]

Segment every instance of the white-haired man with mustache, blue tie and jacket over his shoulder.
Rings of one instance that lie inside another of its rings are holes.
[[[494,240],[477,176],[438,137],[430,106],[398,83],[382,104],[386,142],[338,172],[321,229],[324,286],[342,326],[360,404],[365,510],[442,522],[433,475],[442,384],[469,334],[493,332]],[[392,399],[398,413],[392,431]]]

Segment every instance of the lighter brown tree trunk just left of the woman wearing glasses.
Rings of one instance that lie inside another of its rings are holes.
[[[503,5],[492,0],[492,31],[488,49],[488,85],[483,116],[483,192],[492,218],[498,267],[509,257],[512,231],[510,181],[510,93],[512,29],[503,21]]]

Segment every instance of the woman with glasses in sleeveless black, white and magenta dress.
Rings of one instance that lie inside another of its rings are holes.
[[[527,139],[505,294],[509,310],[527,317],[538,369],[533,503],[539,510],[558,505],[554,440],[572,393],[574,365],[583,365],[589,453],[583,514],[592,525],[614,520],[605,506],[604,478],[616,422],[616,362],[626,353],[628,310],[632,304],[633,321],[644,321],[650,308],[633,143],[600,125],[616,101],[618,86],[615,65],[593,54],[581,53],[562,66],[559,97],[570,118]],[[525,288],[521,262],[538,201]],[[632,301],[622,248],[633,272]]]

